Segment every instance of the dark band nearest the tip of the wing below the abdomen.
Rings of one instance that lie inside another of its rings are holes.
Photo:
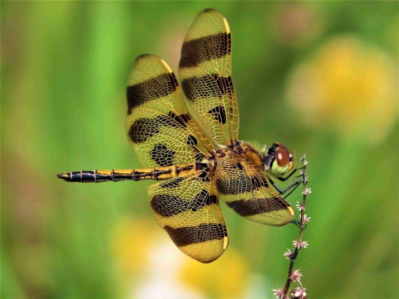
[[[186,246],[211,240],[221,240],[227,236],[226,226],[221,223],[208,223],[179,228],[165,226],[165,230],[177,246]]]

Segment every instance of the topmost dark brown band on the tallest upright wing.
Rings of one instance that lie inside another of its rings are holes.
[[[193,67],[204,61],[223,57],[231,52],[230,33],[221,32],[186,41],[179,67]]]

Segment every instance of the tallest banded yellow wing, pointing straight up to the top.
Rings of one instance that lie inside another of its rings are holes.
[[[238,138],[238,104],[231,78],[231,34],[217,10],[202,10],[185,37],[179,64],[182,88],[218,145]]]

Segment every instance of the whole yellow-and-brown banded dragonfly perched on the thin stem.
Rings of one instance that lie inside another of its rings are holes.
[[[152,213],[176,246],[202,263],[226,250],[220,200],[240,216],[282,226],[294,218],[284,200],[303,182],[283,144],[257,149],[238,139],[239,113],[231,78],[231,32],[215,9],[196,16],[182,46],[181,85],[165,60],[144,54],[130,70],[126,132],[145,168],[57,174],[68,182],[152,179]],[[187,99],[184,98],[184,95]],[[273,188],[274,189],[273,189]]]

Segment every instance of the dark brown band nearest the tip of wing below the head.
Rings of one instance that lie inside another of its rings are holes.
[[[279,197],[266,197],[256,199],[240,199],[227,202],[227,206],[232,208],[238,215],[253,216],[273,211],[285,210],[287,207],[282,205]]]

